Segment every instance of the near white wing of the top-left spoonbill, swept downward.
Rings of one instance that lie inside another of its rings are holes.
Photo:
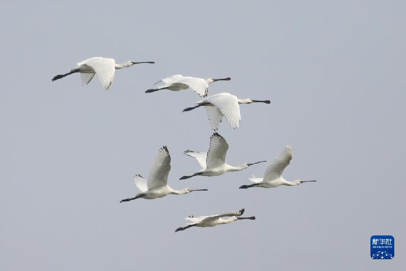
[[[87,65],[95,70],[97,77],[104,89],[109,89],[114,80],[115,61],[113,58],[89,58],[87,62],[79,62],[81,65]]]

